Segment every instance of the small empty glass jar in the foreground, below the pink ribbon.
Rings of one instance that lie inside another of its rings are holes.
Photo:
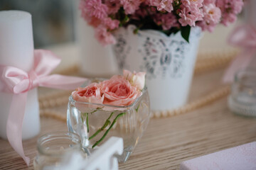
[[[51,132],[38,138],[38,154],[34,159],[35,170],[58,167],[67,152],[81,152],[80,136],[73,132]]]

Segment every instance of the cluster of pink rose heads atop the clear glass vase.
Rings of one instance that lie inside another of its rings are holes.
[[[73,91],[75,101],[100,103],[112,106],[129,106],[142,95],[145,85],[145,72],[129,72],[115,75],[100,83],[92,83]],[[104,109],[104,108],[103,108]]]

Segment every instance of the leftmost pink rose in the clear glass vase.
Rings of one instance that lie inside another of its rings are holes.
[[[75,101],[102,104],[104,96],[100,89],[101,84],[92,83],[86,87],[79,87],[78,90],[72,92],[72,96]]]

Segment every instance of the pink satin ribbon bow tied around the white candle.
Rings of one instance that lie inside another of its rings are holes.
[[[29,164],[29,158],[25,156],[22,146],[22,123],[26,107],[28,91],[45,86],[56,89],[75,89],[86,79],[78,77],[61,76],[59,74],[48,75],[60,64],[60,58],[47,50],[34,51],[34,66],[31,72],[10,66],[0,66],[1,81],[0,91],[14,94],[6,125],[6,135],[11,147]]]

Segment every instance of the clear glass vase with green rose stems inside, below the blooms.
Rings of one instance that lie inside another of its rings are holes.
[[[75,101],[73,96],[69,98],[68,130],[80,135],[82,147],[88,156],[110,137],[122,137],[124,152],[118,161],[126,162],[146,130],[149,118],[149,94],[146,88],[130,106],[85,103]]]

